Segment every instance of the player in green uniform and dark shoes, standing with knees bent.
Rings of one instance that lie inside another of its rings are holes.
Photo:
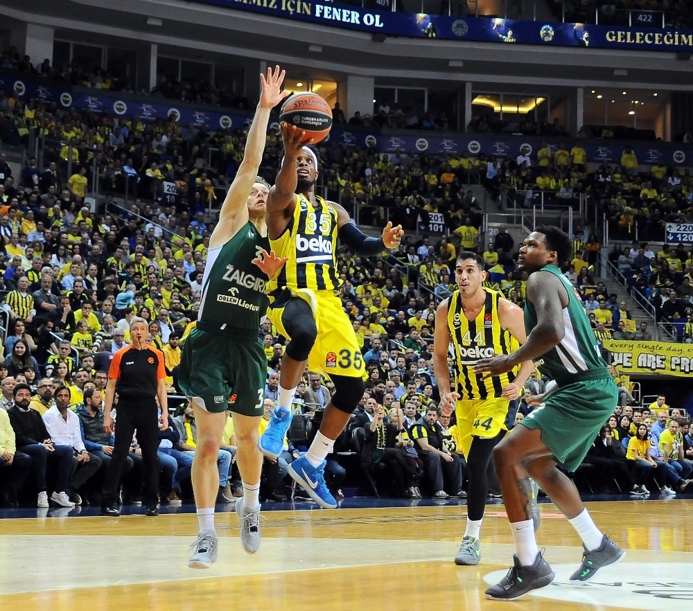
[[[527,342],[510,355],[481,359],[475,366],[476,373],[500,375],[532,360],[552,378],[553,387],[493,450],[517,554],[507,576],[486,590],[490,599],[518,599],[554,578],[534,538],[530,475],[583,542],[582,564],[570,576],[571,583],[588,581],[624,557],[624,551],[597,529],[572,480],[557,468],[560,464],[568,472],[577,469],[618,398],[582,301],[561,274],[560,266],[571,255],[572,242],[557,227],[542,225],[527,236],[518,258],[519,269],[529,272]]]

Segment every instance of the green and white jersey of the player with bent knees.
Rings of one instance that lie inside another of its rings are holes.
[[[611,377],[606,369],[606,363],[599,354],[597,338],[590,326],[582,300],[576,290],[561,274],[561,270],[555,265],[544,265],[541,272],[554,274],[568,291],[568,306],[563,308],[563,325],[565,336],[561,343],[541,356],[534,364],[543,375],[556,380],[568,382],[573,378],[580,379],[584,374],[590,373],[590,377],[603,373],[605,378]],[[536,327],[536,310],[534,304],[527,299],[525,301],[525,329],[527,335]]]

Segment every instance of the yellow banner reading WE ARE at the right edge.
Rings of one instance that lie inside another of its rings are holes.
[[[693,372],[693,344],[607,339],[602,345],[611,352],[612,364],[619,373],[683,376]]]

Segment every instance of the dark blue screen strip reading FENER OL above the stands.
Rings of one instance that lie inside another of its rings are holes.
[[[489,17],[448,17],[392,12],[310,0],[195,0],[236,10],[286,17],[315,24],[428,39],[498,44],[538,44],[617,48],[638,51],[693,51],[693,30],[520,21]]]

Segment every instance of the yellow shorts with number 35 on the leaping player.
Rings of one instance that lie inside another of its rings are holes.
[[[322,375],[345,375],[361,378],[365,369],[363,357],[358,347],[356,332],[347,314],[342,310],[342,301],[333,291],[313,291],[287,287],[290,299],[303,299],[310,305],[317,326],[317,337],[308,357],[308,370]],[[286,332],[281,317],[288,295],[281,292],[277,299],[270,295],[270,309],[267,317],[275,328],[291,339]]]

